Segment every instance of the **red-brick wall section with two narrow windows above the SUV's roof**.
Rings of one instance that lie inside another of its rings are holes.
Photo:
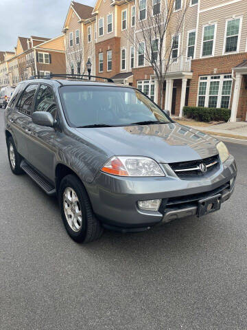
[[[107,51],[113,52],[112,70],[107,71]],[[99,72],[99,53],[103,53],[103,72]],[[111,39],[95,44],[96,76],[111,78],[120,72],[120,38],[115,36]]]

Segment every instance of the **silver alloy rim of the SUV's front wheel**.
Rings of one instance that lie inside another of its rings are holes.
[[[78,196],[73,188],[67,187],[64,190],[63,208],[69,227],[74,232],[78,232],[82,228],[82,210]]]

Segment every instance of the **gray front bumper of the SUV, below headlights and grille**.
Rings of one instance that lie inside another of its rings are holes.
[[[93,210],[105,227],[139,231],[158,223],[195,215],[197,197],[199,200],[204,195],[220,192],[222,202],[226,201],[233,193],[236,175],[235,160],[230,156],[214,173],[196,179],[180,179],[176,175],[117,177],[99,172],[93,184],[85,186]],[[230,185],[231,179],[233,183]],[[185,200],[189,196],[193,196],[193,202]],[[162,199],[158,212],[138,208],[137,201],[148,199]],[[171,207],[171,201],[177,199],[181,199],[182,203],[176,201],[176,205]]]

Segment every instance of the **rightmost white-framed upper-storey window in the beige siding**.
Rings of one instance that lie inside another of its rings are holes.
[[[238,51],[239,26],[240,19],[231,19],[226,22],[225,53]]]

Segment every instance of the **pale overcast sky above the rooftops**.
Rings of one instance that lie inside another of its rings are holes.
[[[76,2],[95,4],[95,0]],[[0,51],[12,52],[18,36],[60,36],[70,3],[70,0],[0,0]]]

